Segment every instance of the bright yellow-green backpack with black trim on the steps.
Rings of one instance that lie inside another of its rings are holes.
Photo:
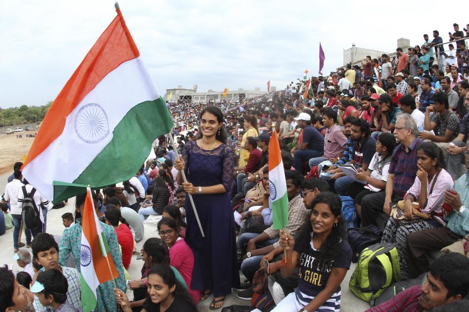
[[[373,305],[383,290],[401,280],[396,244],[375,244],[360,253],[349,287],[358,298]]]

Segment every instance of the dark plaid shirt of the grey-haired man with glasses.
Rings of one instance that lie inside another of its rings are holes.
[[[423,141],[416,137],[409,146],[409,151],[405,151],[404,145],[401,143],[394,149],[391,157],[391,165],[389,173],[394,175],[393,193],[399,197],[414,184],[417,175],[417,149]]]

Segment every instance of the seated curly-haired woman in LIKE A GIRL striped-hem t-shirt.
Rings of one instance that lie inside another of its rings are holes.
[[[287,248],[288,260],[280,271],[288,277],[299,266],[299,280],[295,292],[272,312],[340,311],[340,283],[352,261],[341,206],[336,194],[322,192],[313,201],[311,218],[295,238],[280,231],[280,245]]]

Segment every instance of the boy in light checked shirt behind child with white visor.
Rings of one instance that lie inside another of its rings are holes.
[[[63,276],[67,279],[66,302],[68,305],[81,309],[81,289],[80,289],[80,273],[76,268],[61,267],[59,265],[59,246],[55,242],[52,235],[48,233],[39,233],[36,235],[31,243],[34,261],[43,268],[38,271],[34,278],[33,283],[43,271],[58,270],[62,272]],[[31,289],[31,291],[33,291]],[[34,309],[36,312],[50,312],[52,311],[49,306],[45,306],[38,297],[34,299]],[[75,310],[64,310],[75,311]],[[78,310],[81,311],[81,310]]]

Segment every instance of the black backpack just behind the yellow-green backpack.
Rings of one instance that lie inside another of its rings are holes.
[[[352,227],[347,230],[347,242],[352,248],[352,262],[357,263],[360,252],[368,246],[380,243],[382,232],[375,225]]]

